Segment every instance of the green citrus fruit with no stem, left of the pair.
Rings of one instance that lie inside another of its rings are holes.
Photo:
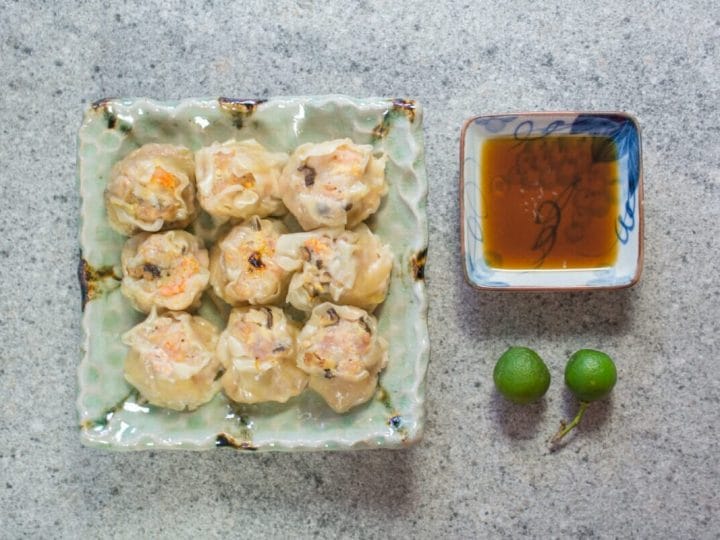
[[[550,371],[540,355],[527,347],[510,347],[493,371],[498,391],[514,403],[531,403],[545,395]]]

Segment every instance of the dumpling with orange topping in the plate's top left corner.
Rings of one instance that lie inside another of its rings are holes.
[[[105,190],[110,225],[121,234],[182,229],[197,215],[190,150],[146,144],[115,164]]]

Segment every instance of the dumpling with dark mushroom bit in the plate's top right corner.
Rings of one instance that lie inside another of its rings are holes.
[[[303,144],[280,177],[283,202],[306,231],[352,228],[376,212],[387,193],[385,159],[350,139]]]

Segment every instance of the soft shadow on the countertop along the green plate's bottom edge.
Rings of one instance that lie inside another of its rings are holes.
[[[407,517],[414,511],[419,489],[416,448],[257,454],[232,449],[127,453],[83,449],[76,456],[73,470],[85,486],[84,504],[97,511],[110,505],[157,511],[160,503],[177,518],[182,514],[178,509],[202,501],[208,511],[222,509],[227,516],[254,516],[261,521],[263,515],[290,519],[300,512],[312,516],[315,527],[323,530],[338,516],[344,516],[343,523],[335,526],[348,526],[365,513],[383,519]],[[95,465],[85,466],[88,462]],[[104,471],[103,482],[94,481],[99,470]],[[170,506],[158,501],[158,494],[166,493],[173,494]]]

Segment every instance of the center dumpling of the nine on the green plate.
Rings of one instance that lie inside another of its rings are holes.
[[[275,245],[285,226],[252,217],[236,225],[210,252],[210,283],[227,303],[269,304],[281,300],[290,273],[275,261]]]

